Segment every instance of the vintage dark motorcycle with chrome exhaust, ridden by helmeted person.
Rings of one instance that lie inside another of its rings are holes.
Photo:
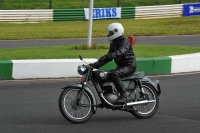
[[[85,62],[79,55],[80,60]],[[161,89],[158,80],[145,77],[144,72],[135,72],[131,76],[122,78],[127,99],[125,103],[117,104],[119,93],[110,81],[109,71],[93,69],[90,64],[78,66],[78,73],[82,75],[80,83],[64,87],[59,97],[59,109],[62,115],[72,123],[88,121],[97,108],[107,108],[130,112],[137,118],[152,117],[159,107]],[[97,100],[89,82],[92,83],[100,98]]]

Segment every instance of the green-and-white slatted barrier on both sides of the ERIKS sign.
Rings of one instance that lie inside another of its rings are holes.
[[[181,16],[183,16],[183,4],[121,8],[121,19]],[[84,9],[0,10],[0,22],[33,23],[51,21],[85,21]]]

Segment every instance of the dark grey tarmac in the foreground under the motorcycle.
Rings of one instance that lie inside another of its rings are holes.
[[[0,81],[0,133],[198,133],[200,73],[151,77],[160,81],[158,112],[138,119],[127,112],[98,109],[84,124],[59,111],[62,87],[77,79]]]

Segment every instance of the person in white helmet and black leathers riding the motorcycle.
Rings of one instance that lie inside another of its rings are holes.
[[[117,103],[124,103],[126,100],[125,86],[120,78],[133,74],[136,70],[136,58],[130,41],[124,35],[124,28],[120,23],[111,23],[107,27],[107,40],[110,43],[109,51],[97,62],[91,64],[93,68],[100,68],[109,61],[115,61],[117,67],[111,72],[111,81],[120,93]]]

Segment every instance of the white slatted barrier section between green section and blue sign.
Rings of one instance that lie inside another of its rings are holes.
[[[140,6],[135,8],[135,19],[182,17],[183,4]]]

